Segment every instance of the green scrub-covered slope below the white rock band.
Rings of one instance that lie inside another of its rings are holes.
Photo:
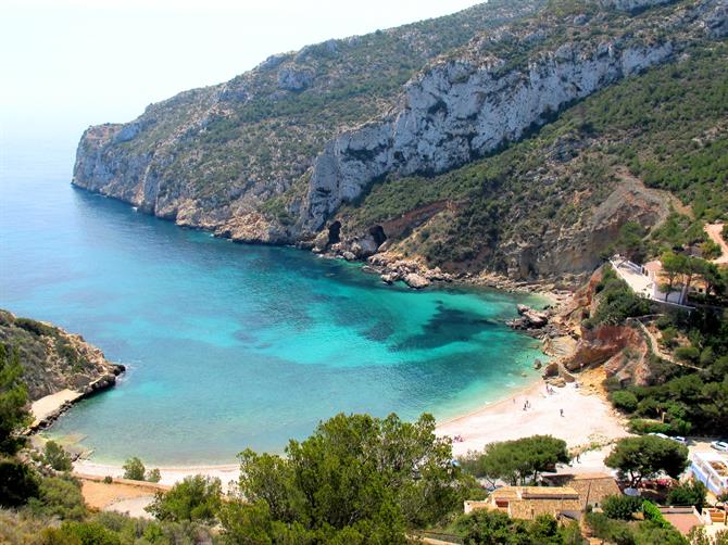
[[[344,225],[363,229],[442,203],[425,227],[402,233],[403,250],[434,265],[502,270],[506,242],[538,249],[554,229],[586,228],[620,183],[615,168],[626,166],[648,187],[675,191],[693,217],[676,212],[649,233],[628,221],[616,246],[579,251],[597,257],[620,248],[638,258],[701,244],[703,223],[728,217],[728,138],[720,130],[727,97],[728,50],[699,46],[679,63],[594,93],[486,159],[434,177],[375,183],[340,216]]]

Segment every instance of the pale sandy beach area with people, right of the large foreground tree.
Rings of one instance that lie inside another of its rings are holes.
[[[437,432],[462,438],[453,441],[455,456],[481,451],[495,441],[536,434],[563,439],[570,449],[628,435],[623,421],[593,386],[572,383],[551,392],[547,394],[545,383],[539,381],[506,400],[442,422]],[[526,402],[529,406],[524,410]]]

